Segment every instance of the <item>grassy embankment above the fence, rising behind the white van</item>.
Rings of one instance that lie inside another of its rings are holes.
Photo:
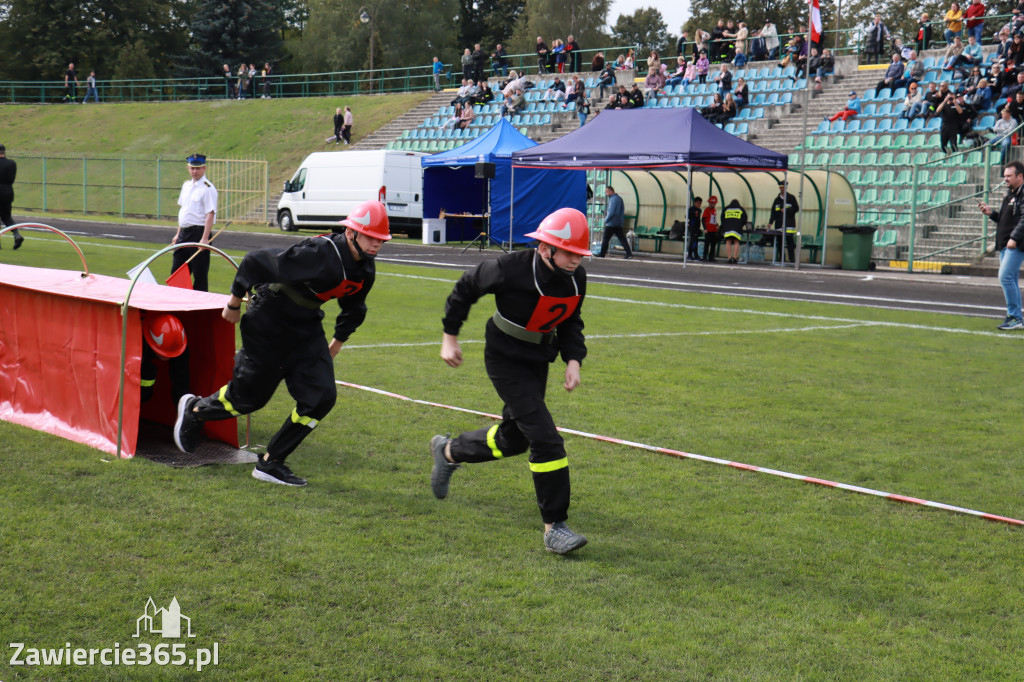
[[[327,148],[324,139],[334,131],[338,106],[352,108],[352,139],[358,141],[428,94],[12,105],[3,109],[2,141],[12,159],[71,154],[183,160],[194,151],[218,158],[258,157],[269,163],[270,186],[276,188],[307,154]]]

